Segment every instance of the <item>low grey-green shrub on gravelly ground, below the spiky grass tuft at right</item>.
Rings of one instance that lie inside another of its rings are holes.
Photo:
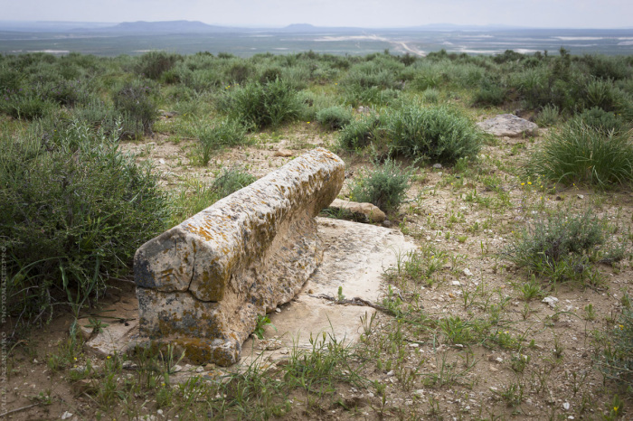
[[[505,256],[551,282],[595,279],[590,260],[616,256],[615,248],[600,249],[608,228],[606,220],[590,210],[580,215],[557,211],[524,228],[505,249]]]

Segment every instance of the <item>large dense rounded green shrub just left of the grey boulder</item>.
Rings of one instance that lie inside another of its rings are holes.
[[[392,154],[439,163],[454,163],[459,158],[477,155],[482,139],[468,117],[447,107],[403,104],[387,114],[384,128],[391,139]]]

